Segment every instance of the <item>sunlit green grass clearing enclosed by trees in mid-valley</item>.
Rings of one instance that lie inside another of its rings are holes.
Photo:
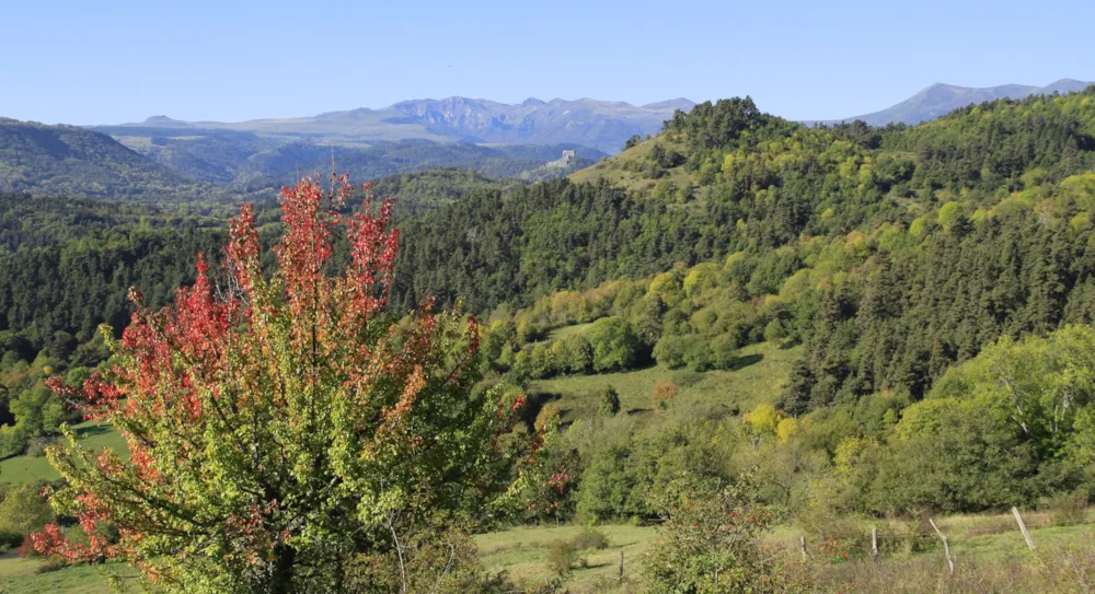
[[[570,326],[577,328],[577,326]],[[562,328],[558,331],[565,331]],[[575,331],[575,330],[569,330]],[[681,403],[703,401],[747,411],[760,403],[775,404],[802,347],[781,349],[772,343],[750,345],[741,349],[738,368],[728,371],[695,373],[652,366],[638,371],[570,375],[534,382],[530,389],[560,395],[558,404],[567,420],[596,414],[598,393],[611,385],[620,394],[620,406],[630,415],[653,411],[650,392],[661,382],[677,386]]]

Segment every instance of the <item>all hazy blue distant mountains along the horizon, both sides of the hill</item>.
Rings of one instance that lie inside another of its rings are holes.
[[[1070,93],[1091,84],[1072,79],[1047,86],[934,84],[888,109],[843,121],[919,124],[975,103]],[[301,175],[328,171],[332,158],[355,179],[457,167],[539,180],[618,152],[633,135],[656,133],[677,109],[694,105],[683,98],[634,106],[589,98],[508,105],[449,97],[300,118],[231,124],[154,116],[90,129],[0,118],[0,191],[170,201],[263,196]],[[564,151],[575,154],[561,160]]]

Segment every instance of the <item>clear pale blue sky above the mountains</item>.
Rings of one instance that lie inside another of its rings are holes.
[[[752,95],[794,119],[933,82],[1095,80],[1095,1],[0,0],[0,116],[235,121],[450,95]]]

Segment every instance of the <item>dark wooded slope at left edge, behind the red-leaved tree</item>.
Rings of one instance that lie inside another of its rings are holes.
[[[223,221],[70,198],[0,196],[0,457],[42,445],[79,419],[45,386],[79,384],[110,357],[97,335],[129,323],[130,287],[168,303],[194,281],[197,254],[218,261]]]

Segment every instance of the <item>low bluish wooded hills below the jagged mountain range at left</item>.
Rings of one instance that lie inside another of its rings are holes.
[[[565,163],[564,154],[570,154]],[[562,177],[607,153],[573,143],[480,145],[424,139],[341,145],[188,127],[47,126],[0,118],[0,193],[129,201],[269,197],[272,188],[330,172],[355,180],[426,168],[493,178]]]

